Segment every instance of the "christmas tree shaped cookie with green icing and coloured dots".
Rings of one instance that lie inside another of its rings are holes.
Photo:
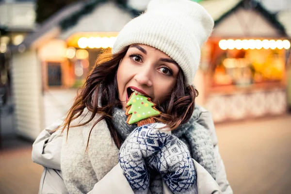
[[[161,114],[155,108],[156,104],[151,101],[150,97],[141,96],[133,92],[127,103],[126,115],[128,115],[127,123],[129,125],[137,123],[140,127],[145,124],[154,123],[152,116]]]

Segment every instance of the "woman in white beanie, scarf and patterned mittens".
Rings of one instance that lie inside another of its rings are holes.
[[[32,160],[43,165],[45,149],[53,141],[60,145],[63,135],[55,165],[44,165],[60,181],[53,184],[46,173],[40,193],[44,187],[69,193],[232,193],[212,120],[205,122],[207,112],[194,103],[192,81],[212,28],[210,15],[190,0],[152,0],[146,13],[131,20],[112,52],[98,57],[63,122],[64,135],[44,130],[35,141]],[[157,104],[157,123],[126,123],[133,92]]]

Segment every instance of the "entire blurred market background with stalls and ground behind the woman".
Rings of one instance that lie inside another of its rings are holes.
[[[42,129],[149,0],[0,0],[0,194],[35,194]],[[291,191],[291,0],[195,0],[215,21],[194,79],[235,194]]]

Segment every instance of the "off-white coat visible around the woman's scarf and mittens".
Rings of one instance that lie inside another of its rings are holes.
[[[206,129],[209,129],[216,157],[217,175],[215,181],[198,162],[194,161],[195,170],[197,172],[198,194],[232,194],[233,192],[226,179],[225,167],[218,151],[218,142],[211,115],[207,110],[203,108],[201,108],[201,110],[200,116],[196,122],[203,125]],[[56,121],[51,126],[44,129],[32,145],[32,161],[44,166],[39,194],[68,194],[62,177],[60,162],[63,133],[61,133],[60,130],[53,132],[54,129],[57,129],[62,124],[63,119]],[[88,194],[117,193],[133,194],[119,163],[99,180],[95,184],[93,190]],[[172,194],[164,183],[163,193]]]

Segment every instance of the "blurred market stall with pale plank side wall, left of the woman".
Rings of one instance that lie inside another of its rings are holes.
[[[140,12],[122,1],[66,6],[12,48],[16,130],[30,139],[65,115],[102,49]]]

